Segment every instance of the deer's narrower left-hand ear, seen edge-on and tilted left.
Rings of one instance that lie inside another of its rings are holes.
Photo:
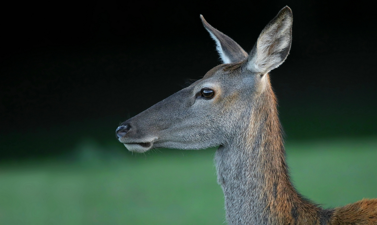
[[[204,28],[210,33],[211,38],[216,42],[216,50],[220,55],[222,63],[242,62],[247,59],[248,55],[244,49],[239,46],[233,39],[216,30],[204,17],[200,15]]]

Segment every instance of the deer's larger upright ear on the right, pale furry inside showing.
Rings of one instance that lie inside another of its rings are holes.
[[[292,11],[285,6],[267,24],[248,57],[250,71],[265,74],[285,61],[291,49],[292,21]]]

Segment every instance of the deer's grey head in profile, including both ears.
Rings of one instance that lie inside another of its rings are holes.
[[[223,64],[123,122],[116,136],[129,151],[204,149],[238,141],[249,125],[257,96],[270,87],[268,72],[287,58],[293,20],[288,6],[262,30],[249,54],[202,15],[201,20]]]

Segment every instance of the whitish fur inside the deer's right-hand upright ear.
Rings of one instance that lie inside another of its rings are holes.
[[[284,62],[285,58],[279,53],[291,43],[291,24],[291,17],[285,16],[262,31],[256,43],[256,53],[248,63],[249,70],[265,74]]]

